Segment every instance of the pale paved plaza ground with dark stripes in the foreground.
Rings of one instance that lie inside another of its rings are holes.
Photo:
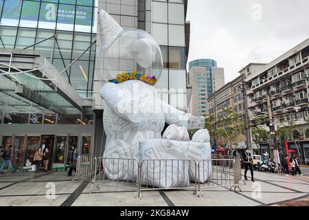
[[[18,171],[0,175],[0,206],[309,206],[309,173],[254,174],[254,183],[240,183],[242,193],[218,187],[204,189],[203,197],[197,197],[192,190],[158,190],[135,199],[134,190],[106,186],[89,194],[91,184],[71,181],[64,171]],[[50,186],[55,186],[54,198],[46,197]]]

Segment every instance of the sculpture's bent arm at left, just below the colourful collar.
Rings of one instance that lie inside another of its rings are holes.
[[[119,89],[115,83],[106,83],[100,90],[100,96],[120,118],[139,123],[144,118],[134,112],[134,103],[138,103],[130,96],[126,89]]]

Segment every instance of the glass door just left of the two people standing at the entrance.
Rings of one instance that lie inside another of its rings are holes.
[[[33,157],[38,147],[40,146],[40,136],[28,136],[25,149],[25,162],[23,169],[31,170],[33,164]]]

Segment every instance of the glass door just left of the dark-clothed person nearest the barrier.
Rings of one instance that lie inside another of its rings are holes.
[[[67,147],[67,136],[56,136],[56,145],[54,151],[53,170],[65,169],[65,151]]]

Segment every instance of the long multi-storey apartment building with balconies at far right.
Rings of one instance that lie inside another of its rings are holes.
[[[306,39],[245,78],[249,87],[249,118],[252,120],[257,115],[268,117],[266,99],[269,96],[275,125],[288,126],[288,121],[297,125],[293,135],[298,136],[304,160],[309,156],[308,58],[309,39]],[[293,142],[289,147],[296,150]]]

